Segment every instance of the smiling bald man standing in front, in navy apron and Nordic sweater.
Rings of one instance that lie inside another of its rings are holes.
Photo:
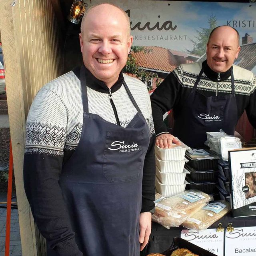
[[[48,256],[139,256],[154,212],[154,125],[144,83],[122,73],[126,13],[90,8],[84,64],[46,84],[26,124],[24,186]]]

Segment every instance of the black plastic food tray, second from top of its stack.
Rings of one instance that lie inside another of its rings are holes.
[[[185,168],[190,171],[190,174],[187,174],[187,177],[190,178],[192,182],[214,182],[218,179],[218,170],[196,171],[188,164],[186,164]]]

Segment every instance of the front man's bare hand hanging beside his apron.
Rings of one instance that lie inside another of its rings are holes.
[[[142,251],[149,240],[151,233],[151,212],[142,212],[140,214],[140,250]]]

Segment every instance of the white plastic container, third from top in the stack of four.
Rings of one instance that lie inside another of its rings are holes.
[[[159,179],[159,181],[162,184],[184,184],[186,174],[190,173],[188,170],[185,168],[183,169],[183,172],[177,173],[177,172],[169,172],[169,173],[164,173],[160,172],[159,168],[156,166],[156,176]]]

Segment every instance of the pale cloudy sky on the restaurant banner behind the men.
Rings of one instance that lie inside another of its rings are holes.
[[[104,2],[92,0],[93,4]],[[130,16],[133,46],[161,46],[184,51],[193,50],[201,28],[209,28],[210,17],[216,25],[229,25],[241,37],[248,33],[256,42],[256,4],[185,1],[112,0]],[[190,40],[191,39],[191,40]]]

